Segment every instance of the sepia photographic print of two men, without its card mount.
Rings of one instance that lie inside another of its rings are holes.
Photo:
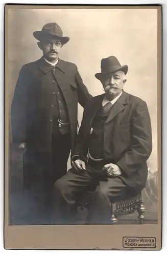
[[[160,224],[161,6],[6,7],[8,225]]]

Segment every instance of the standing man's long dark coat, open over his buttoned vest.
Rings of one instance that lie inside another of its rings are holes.
[[[37,151],[49,151],[52,141],[50,70],[51,66],[43,57],[24,65],[19,73],[11,106],[13,142],[26,142],[29,145],[31,139],[31,146]],[[73,146],[77,135],[78,102],[84,107],[92,96],[74,63],[59,59],[54,76],[67,105]]]

